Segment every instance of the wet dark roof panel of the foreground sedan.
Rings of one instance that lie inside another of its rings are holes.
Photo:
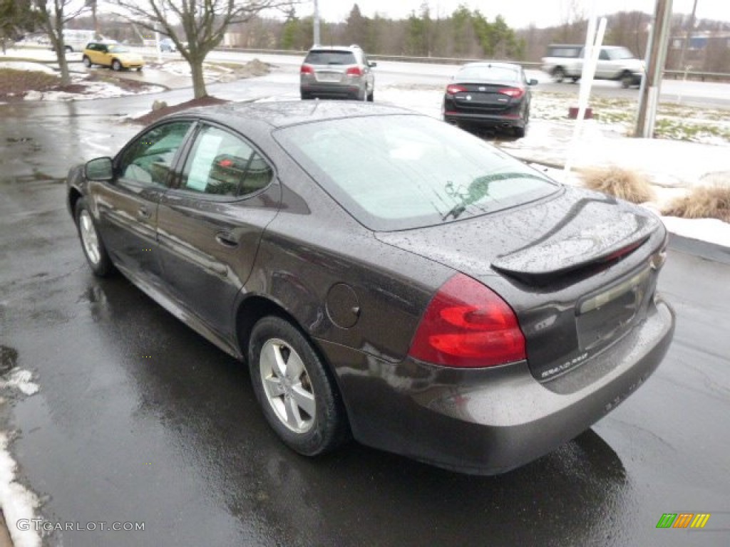
[[[357,101],[271,101],[264,103],[229,103],[203,106],[166,116],[202,117],[235,127],[244,123],[283,128],[301,123],[339,120],[347,117],[383,115],[420,115],[399,106],[363,104]]]

